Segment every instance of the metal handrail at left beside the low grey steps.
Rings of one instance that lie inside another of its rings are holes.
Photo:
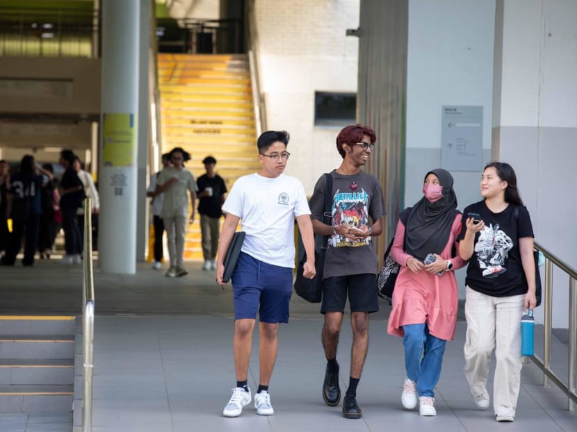
[[[92,374],[94,369],[94,284],[92,281],[92,203],[84,199],[84,254],[82,281],[83,403],[82,431],[92,432]]]

